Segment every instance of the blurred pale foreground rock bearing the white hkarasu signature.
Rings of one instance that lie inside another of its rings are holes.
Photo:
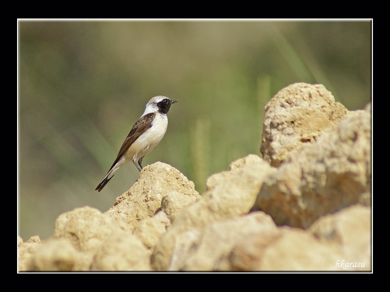
[[[355,205],[321,217],[309,232],[279,227],[242,237],[225,270],[370,271],[370,218],[369,207]]]

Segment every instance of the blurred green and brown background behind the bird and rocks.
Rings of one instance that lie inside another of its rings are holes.
[[[46,239],[63,212],[113,206],[137,168],[95,187],[153,96],[179,103],[143,165],[171,164],[202,193],[210,174],[260,155],[281,88],[321,83],[362,109],[371,44],[370,21],[20,21],[18,234]]]

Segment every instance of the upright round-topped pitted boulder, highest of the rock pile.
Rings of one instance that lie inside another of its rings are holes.
[[[331,131],[347,112],[322,84],[294,83],[281,89],[265,108],[260,146],[263,159],[280,165],[296,149]]]

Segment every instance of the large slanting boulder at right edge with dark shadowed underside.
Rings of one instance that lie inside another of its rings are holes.
[[[362,201],[371,189],[370,121],[369,112],[359,111],[301,147],[265,179],[253,210],[270,214],[277,225],[308,228]]]

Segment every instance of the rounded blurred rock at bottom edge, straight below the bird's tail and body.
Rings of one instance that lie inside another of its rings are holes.
[[[130,231],[117,231],[99,246],[91,270],[150,271],[150,251]]]

